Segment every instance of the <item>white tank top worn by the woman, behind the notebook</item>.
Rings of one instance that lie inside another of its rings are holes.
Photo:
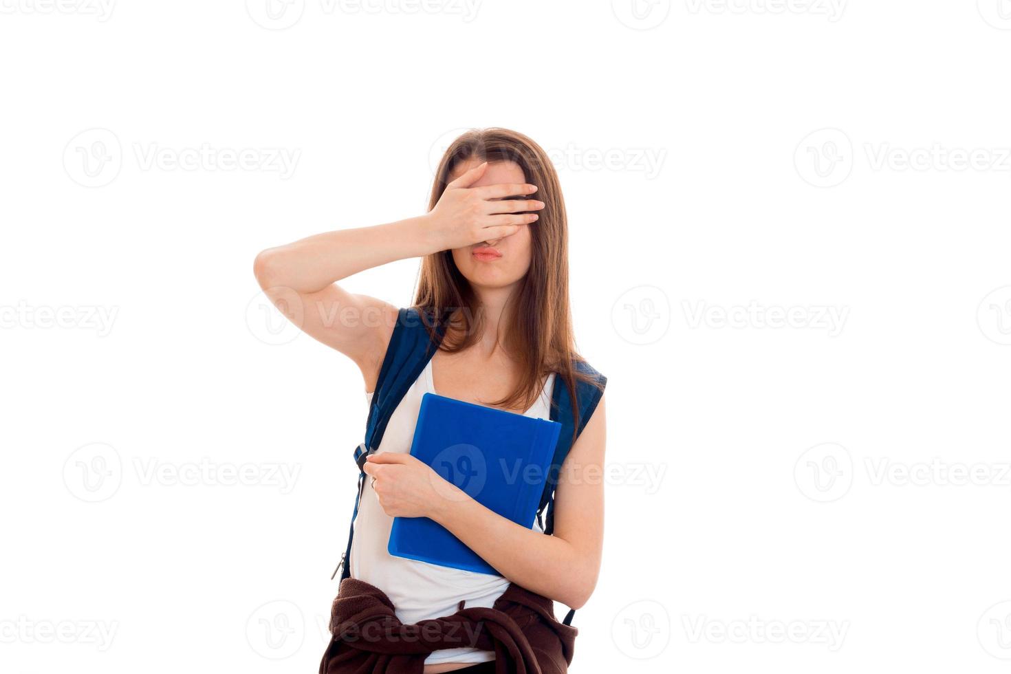
[[[555,375],[548,377],[537,402],[524,412],[525,416],[550,418],[551,389]],[[386,432],[377,453],[410,452],[415,424],[421,409],[422,396],[435,393],[432,380],[432,361],[415,380],[406,395],[393,411],[386,425]],[[371,402],[372,393],[366,394]],[[370,480],[365,480],[362,500],[355,517],[355,536],[351,545],[351,576],[364,580],[386,593],[393,602],[396,617],[406,624],[427,620],[457,611],[460,601],[465,606],[490,608],[510,581],[501,576],[451,569],[428,562],[393,557],[386,551],[393,518],[383,512]],[[534,528],[538,528],[534,522]],[[493,660],[494,653],[478,649],[443,649],[435,651],[425,660],[432,665],[444,662],[485,662]]]

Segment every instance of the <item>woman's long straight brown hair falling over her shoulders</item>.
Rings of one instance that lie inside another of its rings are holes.
[[[517,164],[526,181],[537,185],[535,198],[544,202],[537,223],[530,227],[530,269],[507,307],[505,331],[499,338],[505,352],[520,366],[520,380],[512,393],[491,404],[529,409],[551,372],[561,378],[574,401],[576,381],[594,380],[575,369],[575,363],[583,359],[575,350],[569,312],[568,222],[558,174],[547,154],[526,135],[505,128],[473,129],[454,140],[443,155],[432,185],[429,210],[439,202],[454,169],[471,159]],[[433,316],[434,323],[446,322],[448,331],[441,350],[455,353],[479,340],[483,314],[478,304],[451,251],[426,256],[415,305]],[[573,404],[572,409],[578,428],[578,405]]]

